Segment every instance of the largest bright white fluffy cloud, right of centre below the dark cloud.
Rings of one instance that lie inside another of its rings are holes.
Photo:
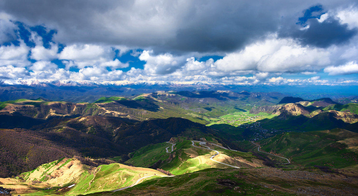
[[[292,39],[277,37],[251,44],[215,62],[218,70],[258,70],[263,72],[300,72],[319,70],[330,63],[329,52],[301,46]]]

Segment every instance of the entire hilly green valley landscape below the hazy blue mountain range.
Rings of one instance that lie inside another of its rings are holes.
[[[358,104],[270,96],[158,91],[1,102],[1,186],[24,196],[330,195],[347,180],[357,189]]]

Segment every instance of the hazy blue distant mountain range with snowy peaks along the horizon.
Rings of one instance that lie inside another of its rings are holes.
[[[37,80],[3,79],[0,80],[0,101],[37,99],[91,102],[102,96],[131,96],[156,91],[213,91],[234,92],[279,92],[285,96],[318,99],[329,97],[357,99],[358,86],[291,86],[291,85],[238,85],[221,82],[202,81],[87,81],[87,80]],[[299,92],[299,93],[298,93]],[[342,100],[344,101],[344,100]],[[350,101],[347,101],[347,103]]]

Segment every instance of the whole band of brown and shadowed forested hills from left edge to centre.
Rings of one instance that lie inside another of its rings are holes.
[[[169,141],[171,137],[200,138],[208,134],[212,135],[213,130],[174,117],[147,121],[111,116],[52,118],[31,129],[0,130],[0,177],[74,155],[125,159],[140,147]]]

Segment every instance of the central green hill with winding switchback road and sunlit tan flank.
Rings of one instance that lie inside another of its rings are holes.
[[[194,147],[190,140],[183,140],[183,138],[175,140],[176,145],[171,153],[167,153],[165,150],[166,147],[171,146],[168,143],[152,144],[131,153],[129,155],[131,159],[125,163],[138,167],[160,168],[175,175],[212,167],[230,167],[210,160],[210,157],[215,154],[212,150]],[[212,142],[214,141],[216,140],[213,139]],[[221,160],[221,162],[245,168],[263,166],[262,161],[253,156],[251,152],[235,152],[214,145],[211,145],[210,148],[221,152],[221,155],[215,157],[216,160]]]

